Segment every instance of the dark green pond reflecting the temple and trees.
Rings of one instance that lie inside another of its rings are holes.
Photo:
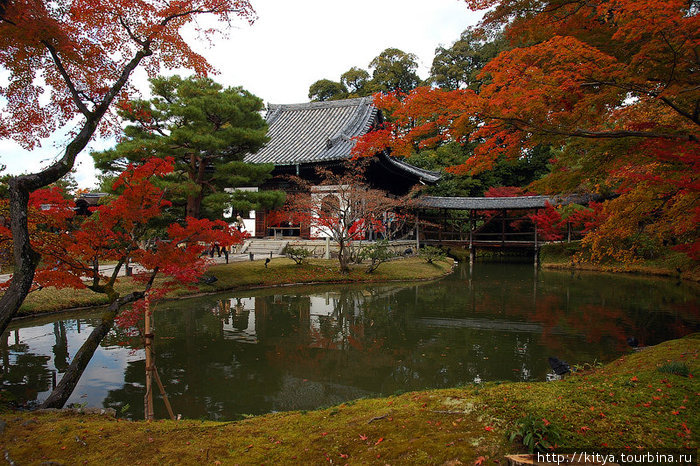
[[[168,302],[155,313],[155,360],[186,418],[314,409],[346,400],[481,381],[545,380],[571,365],[700,329],[698,287],[662,278],[460,265],[420,284],[278,287]],[[99,318],[15,322],[0,339],[0,388],[48,396]],[[69,403],[143,418],[139,338],[112,332]],[[166,417],[156,400],[156,416]]]

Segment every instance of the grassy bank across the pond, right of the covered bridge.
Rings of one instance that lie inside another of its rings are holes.
[[[576,261],[574,255],[578,251],[578,242],[545,244],[540,249],[540,264],[542,267],[552,269],[639,273],[700,281],[700,266],[681,252],[669,250],[656,259],[644,260],[633,264],[613,262],[592,264]]]

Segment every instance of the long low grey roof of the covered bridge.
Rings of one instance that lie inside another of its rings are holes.
[[[543,209],[547,203],[587,204],[590,196],[516,196],[516,197],[440,197],[423,196],[417,199],[419,207],[453,210]]]

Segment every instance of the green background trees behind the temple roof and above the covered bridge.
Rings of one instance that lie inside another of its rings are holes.
[[[435,50],[430,76],[421,80],[417,75],[417,57],[396,48],[382,51],[367,69],[353,66],[338,81],[320,79],[309,87],[309,99],[329,101],[365,97],[375,94],[402,94],[418,87],[447,90],[478,91],[484,82],[480,73],[492,58],[510,48],[502,33],[484,34],[467,29],[450,46]],[[390,108],[382,108],[392,121]],[[456,176],[445,171],[461,165],[472,156],[475,143],[446,141],[443,144],[418,148],[404,154],[407,161],[420,168],[443,172],[442,180],[425,188],[437,196],[483,196],[490,188],[504,186],[526,187],[549,173],[552,157],[549,145],[541,145],[523,153],[517,160],[499,159],[493,170],[474,176]]]

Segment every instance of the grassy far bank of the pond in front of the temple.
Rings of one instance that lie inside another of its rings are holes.
[[[214,265],[206,273],[217,278],[213,284],[202,284],[194,290],[180,288],[171,293],[170,297],[287,284],[431,280],[449,273],[452,262],[428,264],[423,259],[409,257],[381,264],[371,274],[365,273],[365,268],[366,266],[356,266],[350,274],[342,275],[338,272],[337,261],[322,259],[312,259],[302,265],[297,265],[290,259],[272,259],[267,267],[263,261]],[[117,289],[121,293],[128,293],[140,289],[140,286],[125,277],[119,280]],[[104,304],[107,304],[106,296],[90,290],[45,288],[27,297],[19,315],[31,316]]]

